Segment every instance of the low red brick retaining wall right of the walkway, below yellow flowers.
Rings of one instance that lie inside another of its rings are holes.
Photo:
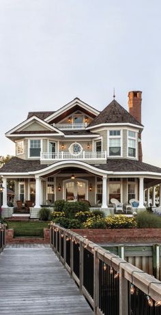
[[[73,229],[93,243],[161,243],[161,229]]]

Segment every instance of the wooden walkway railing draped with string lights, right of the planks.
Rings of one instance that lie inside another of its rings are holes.
[[[50,245],[93,307],[94,314],[161,314],[158,279],[54,223],[50,225]]]

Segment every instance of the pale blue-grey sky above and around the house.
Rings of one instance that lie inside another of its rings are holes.
[[[143,92],[143,161],[161,167],[160,15],[160,0],[1,0],[0,155],[28,111],[75,97],[101,111],[115,87],[126,109]]]

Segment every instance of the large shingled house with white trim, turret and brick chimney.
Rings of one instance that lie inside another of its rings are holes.
[[[111,198],[125,206],[133,198],[144,208],[149,187],[154,205],[161,168],[142,162],[141,92],[129,92],[128,98],[129,111],[115,98],[103,111],[74,98],[57,111],[29,112],[8,131],[16,156],[0,169],[3,217],[13,212],[7,204],[8,180],[15,182],[15,204],[31,200],[31,217],[46,202],[62,199],[88,200],[107,211]]]

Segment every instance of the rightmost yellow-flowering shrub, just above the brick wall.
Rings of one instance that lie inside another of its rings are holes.
[[[126,215],[109,215],[105,221],[108,229],[136,228],[136,220]]]

